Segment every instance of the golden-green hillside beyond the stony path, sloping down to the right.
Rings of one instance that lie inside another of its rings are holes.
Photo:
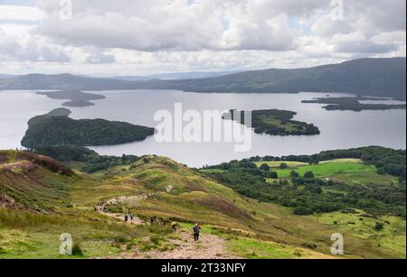
[[[115,211],[123,209],[135,211],[141,217],[175,218],[181,222],[198,221],[204,225],[215,223],[229,230],[229,233],[233,233],[230,230],[239,230],[243,234],[251,234],[250,239],[291,245],[302,250],[304,245],[316,245],[317,251],[324,254],[329,253],[330,236],[337,232],[336,226],[326,226],[308,217],[294,216],[287,208],[242,198],[232,189],[204,179],[199,173],[166,158],[150,157],[145,162],[138,162],[136,169],[125,170],[115,168],[104,172],[104,176],[100,173],[95,175],[103,179],[104,183],[96,183],[93,188],[78,188],[74,193],[75,199],[83,203],[88,195],[95,195],[95,191],[98,191],[100,197],[93,199],[92,203],[122,195],[152,193],[153,196],[148,199],[118,207]],[[166,192],[168,186],[174,187],[171,193]],[[347,239],[352,242],[348,249],[351,255],[392,256],[383,254],[369,240],[352,235]]]

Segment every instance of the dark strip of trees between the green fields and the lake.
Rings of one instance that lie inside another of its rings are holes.
[[[355,148],[349,150],[336,150],[320,152],[314,155],[289,155],[283,157],[265,156],[252,157],[247,162],[306,162],[317,164],[319,162],[336,159],[361,159],[365,164],[374,165],[379,174],[388,174],[398,177],[401,182],[406,180],[406,151],[393,150],[377,146]],[[224,169],[231,166],[229,163],[222,163],[208,167],[209,169]]]

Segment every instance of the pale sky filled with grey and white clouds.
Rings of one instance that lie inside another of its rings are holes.
[[[405,0],[0,0],[4,74],[292,69],[405,56]]]

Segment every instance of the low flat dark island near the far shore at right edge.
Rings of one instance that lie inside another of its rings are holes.
[[[302,103],[308,104],[327,104],[323,106],[327,111],[354,111],[361,112],[365,110],[390,110],[405,109],[405,104],[364,104],[361,101],[386,101],[388,98],[380,97],[321,97],[313,100],[303,100]]]

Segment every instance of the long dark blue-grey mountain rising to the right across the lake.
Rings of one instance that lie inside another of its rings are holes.
[[[344,92],[406,98],[406,59],[362,59],[307,69],[266,69],[219,78],[169,80],[144,88],[198,92],[297,93]]]

